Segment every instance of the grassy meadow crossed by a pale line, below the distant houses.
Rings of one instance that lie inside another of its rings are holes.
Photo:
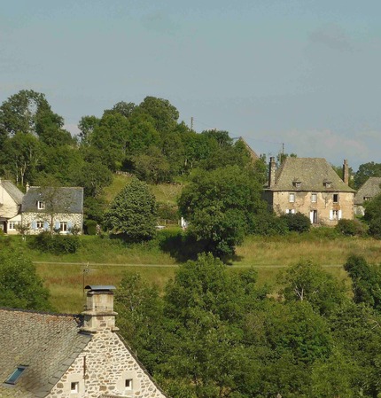
[[[159,250],[157,241],[126,245],[117,239],[82,237],[77,254],[56,256],[27,249],[38,273],[51,290],[52,304],[60,312],[82,310],[83,269],[85,285],[118,285],[125,272],[139,272],[150,284],[163,288],[174,276],[178,265],[170,254]],[[371,263],[381,262],[381,241],[372,238],[311,238],[291,235],[283,238],[245,239],[237,248],[237,258],[229,265],[232,271],[253,266],[258,283],[270,285],[276,293],[276,277],[286,266],[310,259],[338,277],[346,278],[342,268],[349,254],[362,254]]]

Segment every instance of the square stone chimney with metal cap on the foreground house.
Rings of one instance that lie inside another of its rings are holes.
[[[81,328],[83,332],[97,333],[101,331],[116,332],[115,316],[113,311],[113,290],[115,286],[88,285],[86,309],[82,312],[84,323]]]

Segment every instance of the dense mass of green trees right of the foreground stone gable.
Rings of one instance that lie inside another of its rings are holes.
[[[353,299],[310,261],[281,274],[276,299],[253,269],[203,254],[180,267],[164,296],[126,274],[119,326],[173,397],[377,398],[380,267],[351,256],[345,269]]]

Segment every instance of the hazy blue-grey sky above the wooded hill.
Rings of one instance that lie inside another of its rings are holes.
[[[380,160],[381,2],[0,2],[0,102],[43,92],[66,128],[168,99],[254,151]]]

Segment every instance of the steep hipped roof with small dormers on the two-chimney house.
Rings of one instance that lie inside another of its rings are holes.
[[[296,182],[300,183],[297,187]],[[330,183],[327,186],[326,183]],[[269,191],[348,191],[354,192],[323,158],[286,158],[276,170],[276,183]]]

